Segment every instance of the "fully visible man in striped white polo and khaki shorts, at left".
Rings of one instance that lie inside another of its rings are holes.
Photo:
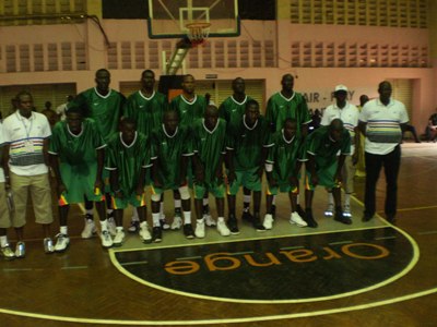
[[[11,187],[15,206],[12,219],[17,238],[15,256],[24,257],[23,233],[28,191],[32,195],[35,221],[43,226],[44,250],[46,253],[52,253],[55,250],[50,239],[54,217],[47,165],[47,146],[51,132],[47,118],[32,111],[33,98],[28,92],[19,93],[16,100],[17,110],[3,122],[3,169],[5,187]]]

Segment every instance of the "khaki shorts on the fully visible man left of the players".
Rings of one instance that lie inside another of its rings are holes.
[[[15,206],[12,226],[19,228],[26,225],[27,191],[31,191],[35,222],[43,225],[51,223],[54,221],[54,213],[48,173],[17,175],[11,171],[10,177]]]

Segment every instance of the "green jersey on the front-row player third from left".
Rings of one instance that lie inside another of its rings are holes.
[[[188,129],[178,126],[175,134],[169,135],[163,124],[161,129],[153,132],[152,144],[154,157],[158,161],[158,175],[163,189],[179,185],[181,158],[193,154]]]

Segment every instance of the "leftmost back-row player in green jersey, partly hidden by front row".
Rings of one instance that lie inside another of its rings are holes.
[[[110,135],[118,130],[118,123],[126,99],[120,93],[109,88],[110,73],[108,70],[99,69],[96,71],[94,81],[96,86],[79,94],[74,100],[68,105],[68,109],[79,107],[83,110],[85,118],[94,119],[97,123],[98,131],[107,143]],[[107,203],[107,205],[110,204]],[[85,228],[82,231],[82,238],[88,239],[95,232],[93,203],[85,201]],[[109,231],[115,234],[113,209],[108,207],[107,214],[109,215]]]

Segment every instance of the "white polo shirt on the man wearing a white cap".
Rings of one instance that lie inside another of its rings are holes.
[[[328,106],[320,121],[323,126],[328,126],[334,119],[340,119],[343,122],[344,128],[351,135],[351,156],[355,153],[355,128],[358,125],[358,108],[346,101],[342,109],[336,104]]]

